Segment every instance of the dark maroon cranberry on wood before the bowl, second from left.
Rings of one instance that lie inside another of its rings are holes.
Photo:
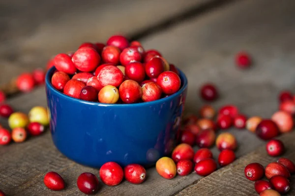
[[[93,173],[81,173],[77,179],[79,190],[87,195],[95,194],[99,188],[98,184],[98,179]]]

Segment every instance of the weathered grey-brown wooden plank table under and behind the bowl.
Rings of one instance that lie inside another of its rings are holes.
[[[215,108],[232,103],[248,116],[270,118],[278,108],[280,90],[293,90],[295,84],[294,0],[10,0],[0,9],[5,16],[0,18],[4,24],[0,84],[4,86],[19,73],[44,67],[51,55],[76,49],[84,41],[105,41],[117,32],[138,39],[146,49],[160,50],[186,73],[186,113],[198,112],[204,104],[198,89],[210,81],[221,94],[212,104]],[[236,68],[234,57],[240,50],[252,55],[251,69]],[[46,106],[44,87],[7,102],[22,112]],[[7,126],[5,119],[0,123]],[[116,187],[101,183],[97,195],[255,195],[254,182],[244,177],[244,167],[251,162],[266,166],[277,158],[269,157],[265,142],[249,131],[232,128],[229,132],[239,143],[237,160],[207,177],[191,173],[166,180],[151,168],[145,183],[123,181]],[[295,161],[295,132],[279,138],[287,147],[284,157]],[[216,147],[212,151],[216,159],[219,152]],[[78,175],[98,176],[98,170],[61,155],[49,131],[22,144],[0,147],[0,157],[0,189],[9,196],[79,196],[83,194],[76,187]],[[48,171],[62,174],[67,182],[64,191],[52,192],[44,186]],[[290,196],[295,195],[294,179]]]

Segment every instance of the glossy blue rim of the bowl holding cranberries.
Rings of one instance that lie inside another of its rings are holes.
[[[69,99],[71,101],[76,101],[76,102],[80,102],[83,104],[88,104],[88,105],[97,105],[97,106],[108,106],[108,107],[140,107],[140,106],[152,106],[154,104],[159,104],[159,103],[163,103],[166,101],[171,101],[176,97],[179,97],[181,93],[184,92],[184,90],[187,88],[188,82],[187,82],[187,78],[186,75],[177,68],[178,72],[179,72],[179,77],[180,80],[183,82],[183,85],[181,86],[181,88],[174,94],[168,96],[167,98],[160,98],[154,101],[148,101],[148,102],[141,102],[141,103],[100,103],[100,102],[96,102],[96,101],[87,101],[87,100],[82,100],[82,99],[78,99],[78,98],[72,98],[70,96],[67,96],[63,93],[61,93],[60,91],[58,91],[57,89],[55,89],[52,84],[51,84],[51,77],[53,75],[53,73],[56,71],[57,69],[55,68],[55,66],[53,66],[52,68],[50,68],[47,72],[46,72],[46,76],[45,76],[45,84],[46,84],[46,88],[48,88],[48,91],[54,92],[57,96],[65,98],[65,99]]]

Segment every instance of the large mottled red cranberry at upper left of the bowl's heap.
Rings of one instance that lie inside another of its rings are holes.
[[[85,47],[78,49],[72,60],[81,72],[92,72],[99,65],[100,56],[95,49]]]

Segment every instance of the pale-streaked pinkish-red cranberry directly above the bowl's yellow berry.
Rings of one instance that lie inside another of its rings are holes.
[[[102,68],[97,76],[99,82],[103,86],[112,85],[115,87],[120,86],[123,82],[123,73],[121,70],[116,66],[106,66]]]

